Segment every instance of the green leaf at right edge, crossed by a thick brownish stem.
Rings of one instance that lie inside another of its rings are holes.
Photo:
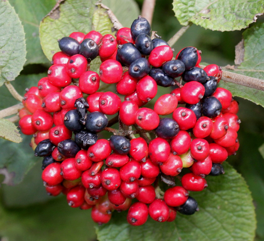
[[[264,23],[258,23],[243,33],[243,41],[236,46],[235,66],[229,66],[225,70],[254,78],[264,79]],[[264,107],[264,92],[241,85],[220,82],[223,88],[227,88],[234,96],[251,100]]]

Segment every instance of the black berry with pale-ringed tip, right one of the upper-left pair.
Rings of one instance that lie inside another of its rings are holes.
[[[99,47],[92,39],[85,38],[79,46],[78,53],[83,55],[88,62],[90,62],[98,56]]]

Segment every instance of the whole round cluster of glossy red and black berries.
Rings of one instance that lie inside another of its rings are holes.
[[[148,215],[164,222],[177,211],[195,213],[198,204],[188,191],[202,191],[207,175],[223,174],[221,163],[239,148],[238,103],[217,87],[221,68],[200,68],[195,47],[173,59],[174,50],[150,34],[139,16],[116,38],[96,31],[61,38],[48,76],[26,90],[19,112],[21,131],[33,135],[35,156],[43,157],[48,194],[62,192],[72,208],[92,208],[99,224],[113,210],[128,209],[131,225],[142,225]],[[97,56],[99,73],[90,70]],[[100,92],[100,81],[116,84],[118,94]],[[153,109],[142,107],[157,86],[177,88],[160,96]],[[117,122],[119,130],[111,128]],[[113,135],[98,139],[101,131]],[[189,172],[180,177],[184,167]]]

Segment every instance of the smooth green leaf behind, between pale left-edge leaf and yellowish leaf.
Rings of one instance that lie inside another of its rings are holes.
[[[9,0],[9,2],[14,6],[24,26],[27,50],[25,65],[47,62],[40,45],[39,23],[55,5],[56,0],[41,0],[38,4],[34,0]]]

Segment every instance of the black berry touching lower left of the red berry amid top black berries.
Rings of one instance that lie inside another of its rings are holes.
[[[135,60],[131,65],[129,65],[128,73],[133,78],[143,78],[144,76],[148,75],[150,71],[150,64],[147,59],[139,58]]]

